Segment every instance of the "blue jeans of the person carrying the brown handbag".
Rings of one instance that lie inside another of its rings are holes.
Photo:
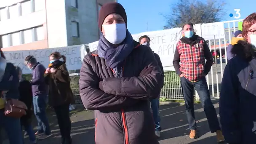
[[[20,119],[13,117],[6,117],[4,114],[4,109],[0,109],[0,131],[4,128],[10,144],[23,144],[23,135],[21,131]],[[0,144],[2,144],[0,138]]]

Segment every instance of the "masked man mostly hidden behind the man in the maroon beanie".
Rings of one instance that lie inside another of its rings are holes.
[[[147,45],[148,47],[150,46],[150,38],[147,35],[143,35],[139,38],[139,43],[141,45]],[[158,56],[157,53],[154,53],[155,59],[157,60],[157,64],[161,69],[161,72],[164,75],[164,71],[163,71],[163,65],[161,62],[160,57]],[[151,104],[151,109],[153,112],[153,117],[154,117],[154,121],[155,121],[155,135],[160,138],[161,136],[161,126],[160,126],[160,116],[159,116],[159,104],[160,104],[160,93],[158,94],[157,99],[150,99],[150,104]]]

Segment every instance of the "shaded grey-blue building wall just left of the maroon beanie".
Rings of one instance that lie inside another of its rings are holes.
[[[99,40],[98,4],[115,2],[115,0],[79,0],[78,8],[70,6],[66,0],[67,43],[79,45]],[[72,37],[71,21],[79,22],[80,37]]]

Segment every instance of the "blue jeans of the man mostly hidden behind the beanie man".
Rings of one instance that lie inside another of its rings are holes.
[[[162,128],[160,127],[160,116],[159,116],[159,101],[160,97],[157,99],[150,99],[151,109],[153,112],[153,118],[155,121],[155,131],[161,131]]]

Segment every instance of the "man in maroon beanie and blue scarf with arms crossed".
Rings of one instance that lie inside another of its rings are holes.
[[[99,11],[102,34],[80,69],[80,96],[95,113],[96,144],[159,144],[149,99],[159,96],[164,75],[152,50],[133,40],[125,9]]]

